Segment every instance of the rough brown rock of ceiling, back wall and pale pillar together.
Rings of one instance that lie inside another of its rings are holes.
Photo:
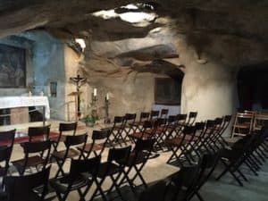
[[[151,1],[139,4],[139,11],[156,14],[153,21],[143,26],[118,17],[119,13],[137,12],[120,7],[130,3],[137,1],[71,0],[66,4],[52,0],[4,0],[0,4],[0,37],[29,29],[47,29],[63,42],[73,37],[85,38],[82,71],[88,77],[89,88],[104,88],[101,91],[111,91],[115,97],[120,96],[115,91],[126,96],[131,93],[132,98],[116,99],[115,103],[124,110],[149,109],[148,105],[154,103],[149,92],[153,88],[142,90],[140,86],[149,86],[155,73],[172,76],[180,69],[185,72],[183,113],[198,111],[199,120],[232,113],[237,106],[239,68],[268,60],[267,1]],[[117,8],[116,17],[103,19],[92,15],[113,8]],[[177,54],[179,58],[170,58]],[[76,71],[74,66],[79,62],[73,63],[75,56],[71,54],[68,57],[66,67]],[[141,84],[131,83],[133,79]],[[89,98],[90,90],[85,92]],[[148,101],[137,106],[137,98],[144,100],[147,94]],[[111,107],[114,113],[123,113],[115,105]]]

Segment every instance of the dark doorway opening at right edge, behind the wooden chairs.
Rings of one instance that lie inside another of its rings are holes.
[[[268,111],[268,63],[243,67],[238,73],[239,106]]]

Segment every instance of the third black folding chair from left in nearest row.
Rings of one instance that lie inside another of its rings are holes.
[[[100,193],[102,198],[106,201],[107,197],[105,196],[105,192],[102,189],[102,185],[105,182],[105,179],[108,177],[112,180],[111,188],[107,191],[109,194],[113,188],[115,188],[117,194],[123,199],[120,186],[121,183],[118,183],[118,180],[121,177],[121,174],[124,170],[124,163],[128,160],[130,155],[131,147],[121,147],[121,148],[111,148],[109,149],[108,158],[105,163],[100,163],[98,172],[96,173],[96,190],[93,193],[90,201],[92,201],[97,192]],[[98,180],[99,179],[99,180]]]

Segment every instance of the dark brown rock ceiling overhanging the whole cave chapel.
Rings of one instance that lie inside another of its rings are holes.
[[[136,8],[124,7],[127,4],[134,4]],[[93,14],[100,11],[113,11],[113,17]],[[121,15],[138,12],[154,13],[155,18],[136,23],[124,21]],[[250,41],[263,46],[264,50],[268,45],[266,0],[2,0],[0,13],[1,38],[29,29],[47,29],[57,38],[90,36],[105,42],[145,38],[151,30],[169,26],[197,47],[211,36]],[[134,57],[150,61],[143,66],[151,66],[155,61],[159,64],[164,58],[178,57],[178,53],[170,44],[156,44],[114,56],[117,60],[122,57],[121,65],[130,63],[126,58]]]

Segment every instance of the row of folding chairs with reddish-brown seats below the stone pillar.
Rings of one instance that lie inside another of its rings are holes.
[[[193,125],[177,125],[164,143],[172,151],[167,163],[192,164],[202,157],[203,153],[214,153],[227,146],[222,137],[230,124],[231,116],[226,115],[215,120],[196,122]]]

